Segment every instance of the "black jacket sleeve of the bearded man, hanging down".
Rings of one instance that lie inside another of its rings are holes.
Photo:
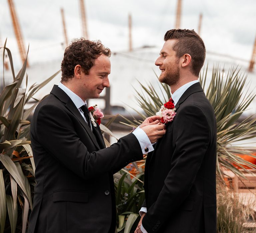
[[[210,143],[210,126],[203,111],[194,105],[180,109],[173,122],[171,170],[155,203],[147,209],[143,227],[158,232],[169,216],[188,197]],[[168,148],[168,147],[166,147]],[[165,151],[168,153],[168,150]],[[156,158],[160,159],[160,158]],[[154,229],[154,226],[159,226]]]

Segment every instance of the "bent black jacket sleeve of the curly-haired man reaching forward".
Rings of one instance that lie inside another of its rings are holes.
[[[35,134],[47,152],[84,179],[121,169],[143,158],[140,144],[132,133],[108,148],[90,153],[78,137],[70,116],[54,105],[39,109]]]

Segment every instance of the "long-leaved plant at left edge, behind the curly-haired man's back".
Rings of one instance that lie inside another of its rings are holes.
[[[41,84],[27,88],[27,60],[15,75],[10,50],[5,45],[0,49],[4,53],[7,51],[13,77],[13,82],[5,86],[3,73],[4,90],[0,95],[0,232],[25,233],[35,184],[35,164],[29,140],[30,121],[27,119],[39,102],[33,98],[34,94],[59,72]],[[25,89],[22,88],[24,77]],[[26,109],[31,100],[32,106]],[[9,219],[6,218],[7,212]]]

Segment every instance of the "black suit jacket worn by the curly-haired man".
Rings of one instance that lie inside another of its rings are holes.
[[[29,233],[115,232],[113,173],[143,155],[132,133],[105,148],[99,126],[92,127],[93,132],[58,86],[37,106],[31,121],[37,183]]]

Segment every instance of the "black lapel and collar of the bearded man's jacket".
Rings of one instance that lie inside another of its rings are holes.
[[[193,93],[196,93],[196,92],[203,92],[203,89],[202,89],[200,83],[195,83],[195,84],[193,84],[192,86],[190,86],[190,87],[183,93],[183,95],[180,97],[178,103],[175,105],[176,112],[177,112],[178,108],[180,107],[180,105],[181,105],[190,95],[192,95]],[[174,119],[175,119],[175,117],[174,117]],[[168,122],[167,125],[166,125],[166,129],[167,129],[167,127],[172,127],[171,124],[172,124],[172,122]],[[164,137],[165,137],[165,135],[164,135]],[[149,160],[149,163],[152,161],[152,158],[155,156],[155,153],[156,153],[156,150],[157,150],[157,146],[159,145],[159,143],[161,142],[161,140],[162,140],[162,138],[160,138],[160,139],[156,142],[156,144],[155,144],[155,146],[154,146],[154,151],[153,151],[153,153],[151,154],[151,156],[150,156],[150,158],[149,158],[149,159],[150,159],[150,160]]]

